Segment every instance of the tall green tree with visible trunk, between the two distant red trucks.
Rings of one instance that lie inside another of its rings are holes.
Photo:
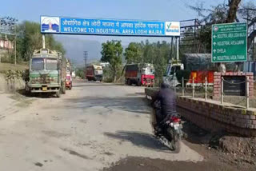
[[[109,62],[113,72],[114,82],[117,81],[118,69],[122,65],[122,45],[121,41],[107,41],[102,43],[102,62]]]

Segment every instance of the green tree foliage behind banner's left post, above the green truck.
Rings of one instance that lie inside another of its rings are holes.
[[[40,24],[38,22],[22,22],[17,27],[17,33],[17,58],[19,61],[29,61],[34,50],[42,48]],[[46,48],[65,54],[62,44],[57,42],[51,34],[46,34]]]

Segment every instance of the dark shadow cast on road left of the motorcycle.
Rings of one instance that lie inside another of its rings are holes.
[[[170,149],[168,149],[165,145],[162,145],[162,143],[158,141],[158,139],[154,138],[150,133],[118,131],[117,133],[104,134],[108,137],[119,139],[121,141],[130,141],[134,145],[142,148],[166,150],[170,152]]]

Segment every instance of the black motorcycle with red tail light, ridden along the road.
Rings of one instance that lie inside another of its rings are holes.
[[[157,107],[154,108],[154,112],[151,114],[151,123],[154,128],[154,134],[163,145],[166,145],[171,150],[179,152],[180,141],[183,136],[180,115],[179,113],[168,115],[156,125],[156,112],[160,111],[159,105],[157,105]]]

